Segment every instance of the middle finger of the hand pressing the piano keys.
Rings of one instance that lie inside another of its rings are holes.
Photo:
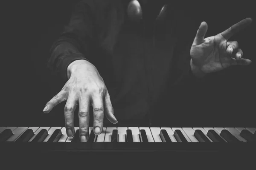
[[[87,142],[89,136],[90,122],[90,98],[89,96],[81,95],[79,99],[79,133],[81,142]]]

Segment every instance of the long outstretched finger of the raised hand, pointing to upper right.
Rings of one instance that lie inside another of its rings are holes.
[[[252,23],[252,19],[251,18],[245,18],[244,20],[241,20],[240,22],[234,24],[233,26],[231,26],[230,28],[228,28],[227,30],[223,31],[222,33],[220,33],[226,40],[230,39],[230,37],[232,37],[234,34],[236,34],[237,32],[239,32],[240,30],[246,28],[247,26],[250,25],[250,23]]]

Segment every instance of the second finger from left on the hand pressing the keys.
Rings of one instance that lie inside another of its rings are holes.
[[[74,112],[76,110],[77,100],[76,94],[72,93],[68,96],[67,102],[64,108],[64,117],[66,124],[67,136],[72,137],[74,135]]]

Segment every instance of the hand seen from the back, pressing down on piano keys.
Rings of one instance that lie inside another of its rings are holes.
[[[89,134],[89,111],[93,106],[93,129],[99,135],[103,129],[103,118],[106,114],[111,123],[117,123],[113,114],[108,90],[99,72],[90,62],[76,60],[68,66],[68,81],[62,90],[45,106],[44,113],[67,100],[64,114],[67,136],[74,135],[74,111],[79,105],[79,129],[81,142],[86,142]]]

